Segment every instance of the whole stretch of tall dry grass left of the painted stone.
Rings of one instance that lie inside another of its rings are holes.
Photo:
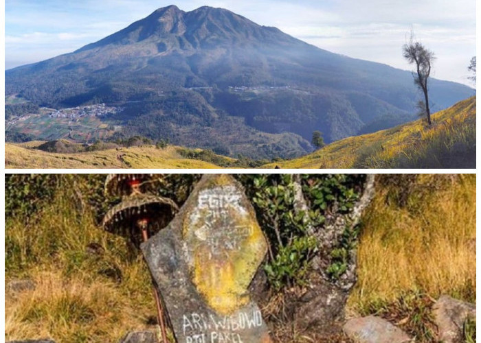
[[[36,287],[5,294],[5,340],[117,342],[151,327],[155,303],[141,253],[104,233],[85,199],[64,186],[29,220],[6,219],[6,282],[31,279]]]

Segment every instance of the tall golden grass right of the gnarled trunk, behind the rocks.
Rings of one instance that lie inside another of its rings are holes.
[[[419,185],[433,178],[420,176]],[[476,175],[453,182],[410,196],[403,208],[386,203],[388,190],[377,191],[363,218],[352,310],[362,313],[410,291],[476,300]]]

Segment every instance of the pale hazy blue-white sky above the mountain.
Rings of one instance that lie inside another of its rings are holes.
[[[434,78],[473,86],[476,0],[5,0],[5,68],[74,51],[171,4],[227,8],[322,49],[401,69],[410,69],[401,47],[413,28],[436,54]]]

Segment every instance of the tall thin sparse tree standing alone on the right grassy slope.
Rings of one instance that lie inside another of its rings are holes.
[[[434,53],[416,41],[413,32],[411,32],[409,43],[406,43],[403,46],[403,56],[410,64],[416,64],[416,71],[413,71],[412,73],[414,76],[414,84],[421,88],[421,91],[424,93],[423,112],[425,112],[427,117],[427,123],[431,125],[431,112],[429,110],[429,97],[427,95],[427,79],[431,73]]]

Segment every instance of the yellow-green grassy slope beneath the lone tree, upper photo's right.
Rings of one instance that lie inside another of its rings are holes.
[[[349,137],[273,168],[475,168],[476,97],[396,128]]]

